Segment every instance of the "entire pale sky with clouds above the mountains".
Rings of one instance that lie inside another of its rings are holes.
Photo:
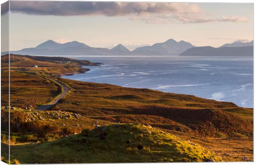
[[[10,1],[10,11],[10,50],[47,40],[129,50],[171,38],[213,47],[253,40],[250,3]]]

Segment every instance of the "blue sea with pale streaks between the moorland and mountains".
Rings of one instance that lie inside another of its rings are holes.
[[[253,107],[253,59],[244,57],[72,57],[102,66],[72,80],[149,88]]]

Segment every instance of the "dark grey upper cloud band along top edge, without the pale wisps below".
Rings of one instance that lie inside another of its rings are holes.
[[[34,15],[77,16],[101,14],[124,16],[143,13],[200,13],[195,4],[163,2],[49,2],[11,1],[11,12]],[[3,12],[6,12],[5,10]]]

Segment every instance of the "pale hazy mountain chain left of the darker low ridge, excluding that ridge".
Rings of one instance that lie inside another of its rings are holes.
[[[156,43],[152,46],[138,47],[130,51],[119,44],[112,49],[90,47],[84,43],[73,41],[64,44],[48,40],[36,47],[25,48],[18,51],[11,51],[13,54],[24,55],[179,55],[188,48],[194,47],[189,42],[176,42],[173,39],[163,43]],[[3,52],[1,54],[6,54]]]

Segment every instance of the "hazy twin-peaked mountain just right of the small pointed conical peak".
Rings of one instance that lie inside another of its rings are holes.
[[[180,41],[177,42],[173,39],[169,39],[163,43],[156,43],[152,46],[138,47],[133,50],[134,53],[154,54],[154,55],[178,55],[185,50],[194,47],[189,42]]]

